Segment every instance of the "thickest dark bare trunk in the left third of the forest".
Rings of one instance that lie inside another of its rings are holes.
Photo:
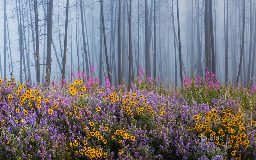
[[[46,75],[45,80],[47,84],[50,84],[51,79],[51,41],[52,41],[52,10],[53,0],[49,0],[48,7],[48,23],[47,23],[47,56],[46,56]]]

